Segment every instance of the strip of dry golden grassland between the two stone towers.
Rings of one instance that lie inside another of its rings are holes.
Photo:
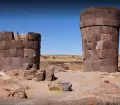
[[[66,66],[70,70],[81,70],[83,61],[79,55],[42,55],[40,68],[47,68],[50,65]]]

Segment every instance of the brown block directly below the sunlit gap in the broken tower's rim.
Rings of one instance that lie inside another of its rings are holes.
[[[10,44],[10,48],[11,49],[16,49],[16,48],[22,49],[23,48],[22,40],[12,40]]]

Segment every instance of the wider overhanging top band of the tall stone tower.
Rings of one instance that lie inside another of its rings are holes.
[[[88,8],[87,10],[82,11],[80,15],[81,28],[86,26],[93,26],[93,25],[107,25],[107,26],[119,27],[119,22],[118,22],[120,19],[119,9],[113,10],[113,8],[109,8],[106,10],[103,9],[103,7],[93,7],[93,8],[94,9]],[[114,11],[114,13],[112,11]]]

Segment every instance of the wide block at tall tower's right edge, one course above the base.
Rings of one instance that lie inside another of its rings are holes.
[[[117,66],[118,62],[117,59],[99,59],[98,65],[99,66]]]

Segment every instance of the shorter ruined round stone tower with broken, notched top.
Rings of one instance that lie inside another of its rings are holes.
[[[39,33],[28,32],[19,36],[13,32],[0,32],[0,70],[9,66],[21,68],[24,63],[33,63],[39,69],[40,42]]]

